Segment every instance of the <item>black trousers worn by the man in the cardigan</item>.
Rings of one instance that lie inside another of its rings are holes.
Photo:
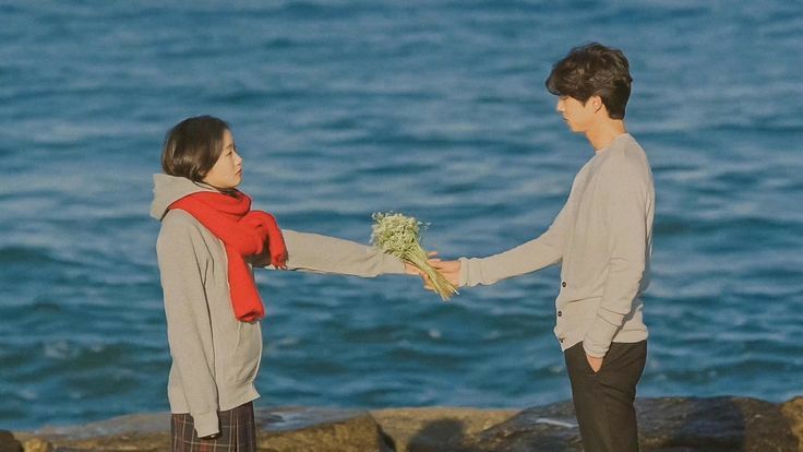
[[[588,364],[582,342],[564,357],[585,452],[638,452],[634,402],[647,341],[612,343],[598,372]]]

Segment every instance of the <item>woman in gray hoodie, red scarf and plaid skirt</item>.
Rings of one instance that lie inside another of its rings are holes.
[[[172,450],[255,451],[252,401],[264,316],[252,266],[373,277],[405,273],[376,248],[279,230],[237,190],[242,158],[226,122],[189,118],[168,131],[151,215],[172,366]]]

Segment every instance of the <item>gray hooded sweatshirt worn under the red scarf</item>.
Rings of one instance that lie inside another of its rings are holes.
[[[235,318],[223,241],[184,211],[167,207],[211,187],[182,177],[154,176],[151,216],[161,222],[156,253],[172,366],[172,413],[190,413],[199,437],[219,432],[218,411],[257,399],[254,379],[262,357],[260,323]],[[404,263],[348,240],[283,229],[289,270],[373,277],[405,272]],[[255,257],[254,265],[269,262]],[[273,269],[266,266],[266,269]]]

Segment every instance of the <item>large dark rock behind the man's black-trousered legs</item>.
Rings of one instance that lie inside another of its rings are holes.
[[[778,404],[746,397],[639,399],[639,442],[655,452],[795,452],[790,415],[803,419],[803,400]],[[799,421],[799,428],[803,428]],[[799,430],[800,431],[800,430]],[[572,403],[525,409],[453,449],[464,452],[582,451]]]

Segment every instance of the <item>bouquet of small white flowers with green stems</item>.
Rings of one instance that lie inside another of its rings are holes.
[[[423,223],[392,212],[375,213],[372,217],[371,243],[422,271],[444,301],[457,294],[457,288],[428,262],[427,251],[421,247]]]

